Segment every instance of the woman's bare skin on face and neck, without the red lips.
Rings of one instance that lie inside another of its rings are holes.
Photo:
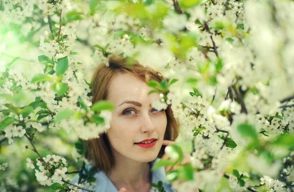
[[[108,177],[119,192],[149,192],[151,172],[148,162],[156,159],[163,144],[167,127],[165,110],[151,107],[158,93],[147,95],[151,87],[129,74],[118,74],[110,82],[108,98],[116,109],[112,111],[107,138],[114,154],[114,167]],[[138,103],[124,103],[135,101]],[[134,105],[135,104],[135,105]],[[136,106],[136,104],[138,106]],[[141,106],[141,107],[140,107]],[[143,148],[135,142],[156,138],[151,148]]]

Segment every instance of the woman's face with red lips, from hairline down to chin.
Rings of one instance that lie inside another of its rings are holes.
[[[158,111],[151,107],[152,99],[159,99],[159,94],[147,95],[150,90],[152,88],[145,82],[129,74],[119,74],[110,83],[107,100],[116,109],[112,111],[107,137],[116,161],[126,157],[138,162],[150,162],[159,153],[167,116],[165,110]],[[157,139],[152,147],[135,144],[150,138]]]

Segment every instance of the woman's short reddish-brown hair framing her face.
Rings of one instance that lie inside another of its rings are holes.
[[[101,64],[98,66],[92,78],[92,103],[100,100],[106,100],[108,88],[113,77],[117,74],[132,74],[147,82],[155,80],[161,82],[166,81],[159,72],[149,67],[144,67],[137,61],[129,62],[129,59],[120,57],[118,55],[109,56],[109,66]],[[166,111],[167,115],[167,128],[164,139],[175,140],[179,134],[179,126],[176,119],[173,117],[171,104],[168,105]],[[87,159],[93,161],[96,171],[104,171],[106,174],[110,173],[114,165],[114,156],[110,148],[109,141],[105,133],[99,135],[100,138],[85,140],[87,145]],[[158,157],[161,158],[164,154],[165,146],[162,146]]]

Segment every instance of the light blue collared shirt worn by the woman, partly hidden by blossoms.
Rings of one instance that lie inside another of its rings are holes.
[[[156,158],[153,162],[150,162],[151,167],[154,163],[158,162],[160,159]],[[97,192],[118,192],[116,187],[113,185],[111,180],[107,177],[107,175],[101,170],[97,172],[94,177],[96,178],[96,185],[92,190]],[[74,176],[71,183],[75,183],[78,180],[78,174]],[[157,184],[158,181],[162,181],[163,188],[166,192],[175,192],[172,189],[171,184],[168,182],[164,166],[159,167],[158,169],[152,171],[152,180],[151,183]],[[86,192],[82,190],[83,192]]]

